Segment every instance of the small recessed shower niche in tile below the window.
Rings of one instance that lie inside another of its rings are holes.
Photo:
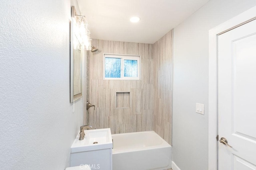
[[[130,108],[130,92],[116,92],[116,108]]]

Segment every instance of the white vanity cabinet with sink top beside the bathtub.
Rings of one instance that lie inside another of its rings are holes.
[[[110,128],[84,131],[78,134],[71,146],[70,166],[88,164],[91,170],[112,170],[112,136]]]

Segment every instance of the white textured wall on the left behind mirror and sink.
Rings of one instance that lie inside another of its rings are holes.
[[[0,169],[64,170],[82,124],[70,104],[70,0],[0,1]]]

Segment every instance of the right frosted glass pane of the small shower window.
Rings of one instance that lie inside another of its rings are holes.
[[[137,77],[137,60],[124,60],[124,76]]]

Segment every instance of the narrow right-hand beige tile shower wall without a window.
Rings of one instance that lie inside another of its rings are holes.
[[[172,145],[172,31],[153,45],[153,129],[170,145]]]

